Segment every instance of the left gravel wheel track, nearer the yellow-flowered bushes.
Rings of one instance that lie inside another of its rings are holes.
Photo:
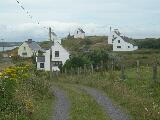
[[[70,109],[70,101],[68,96],[59,88],[54,88],[53,91],[56,97],[53,120],[68,120]]]

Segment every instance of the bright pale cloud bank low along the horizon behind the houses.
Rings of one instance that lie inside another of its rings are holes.
[[[36,41],[48,40],[48,30],[43,27],[52,27],[54,32],[59,37],[66,37],[68,33],[74,33],[78,27],[84,29],[86,35],[109,35],[108,25],[101,25],[95,23],[76,23],[76,22],[60,22],[60,21],[44,21],[41,25],[33,23],[23,23],[16,25],[0,25],[0,36],[6,41],[24,41],[28,38],[32,38]],[[124,35],[132,38],[145,38],[145,37],[159,37],[160,28],[136,26],[112,26],[113,28],[119,28]]]

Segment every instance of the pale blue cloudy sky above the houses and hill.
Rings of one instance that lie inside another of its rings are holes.
[[[0,0],[0,40],[48,39],[52,27],[65,37],[78,27],[109,35],[110,26],[131,38],[160,38],[160,0]],[[37,23],[40,23],[38,25]]]

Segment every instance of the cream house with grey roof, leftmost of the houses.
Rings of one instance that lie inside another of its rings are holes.
[[[18,49],[18,55],[20,57],[32,57],[33,55],[38,55],[38,51],[43,51],[41,47],[32,39],[25,41]]]

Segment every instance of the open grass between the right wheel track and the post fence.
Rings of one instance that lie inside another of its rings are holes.
[[[136,69],[126,70],[126,79],[120,80],[119,71],[94,74],[62,75],[59,81],[82,84],[103,90],[124,108],[134,120],[160,119],[160,83],[152,80],[152,69],[141,67],[141,79],[136,79]],[[160,71],[158,71],[160,75]],[[158,76],[160,78],[160,76]]]

